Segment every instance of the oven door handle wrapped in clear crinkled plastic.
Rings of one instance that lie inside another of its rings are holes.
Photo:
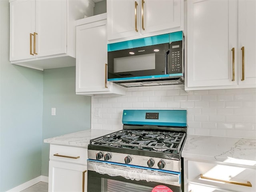
[[[90,168],[89,168],[90,167]],[[88,169],[92,169],[99,174],[108,174],[109,176],[122,176],[130,180],[146,180],[147,182],[180,182],[180,175],[142,170],[133,167],[117,166],[112,164],[103,164],[88,161]]]

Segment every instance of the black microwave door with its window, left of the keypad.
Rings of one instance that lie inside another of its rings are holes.
[[[108,52],[108,79],[166,74],[169,43]]]

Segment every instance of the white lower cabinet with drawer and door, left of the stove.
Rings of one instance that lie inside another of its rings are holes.
[[[49,192],[87,192],[87,148],[50,145]]]

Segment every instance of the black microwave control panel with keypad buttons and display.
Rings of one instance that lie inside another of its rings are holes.
[[[169,73],[182,73],[182,41],[172,42],[170,44],[170,66]]]

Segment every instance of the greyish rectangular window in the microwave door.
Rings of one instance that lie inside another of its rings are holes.
[[[114,58],[114,73],[152,70],[156,68],[156,54]]]

